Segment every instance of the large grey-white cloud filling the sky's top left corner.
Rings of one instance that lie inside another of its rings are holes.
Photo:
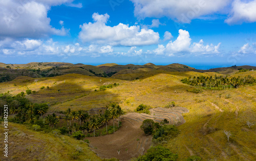
[[[0,38],[39,38],[66,35],[65,28],[55,29],[47,17],[51,5],[71,1],[0,1]]]

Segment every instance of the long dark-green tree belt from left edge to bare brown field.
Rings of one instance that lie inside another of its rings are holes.
[[[55,113],[45,115],[50,104],[32,103],[25,98],[24,92],[16,96],[12,96],[9,93],[0,94],[0,105],[4,106],[5,104],[8,104],[9,115],[12,115],[12,117],[9,117],[10,122],[26,123],[35,130],[44,130],[46,132],[55,130],[62,135],[72,135],[76,139],[84,138],[85,131],[89,134],[88,136],[91,136],[89,132],[93,131],[93,136],[95,137],[95,130],[102,126],[106,129],[106,132],[102,133],[102,135],[115,132],[121,124],[120,116],[124,114],[119,104],[111,103],[106,106],[105,112],[99,115],[90,115],[82,110],[76,112],[70,108],[65,111],[65,116]],[[1,108],[2,119],[3,114],[3,108]],[[111,120],[113,120],[113,126],[108,128],[108,123]],[[118,123],[116,124],[115,122]],[[78,133],[80,134],[78,135]]]

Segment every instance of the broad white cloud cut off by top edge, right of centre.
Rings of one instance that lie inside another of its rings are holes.
[[[191,19],[221,11],[231,0],[131,0],[139,18],[169,17],[190,23]]]

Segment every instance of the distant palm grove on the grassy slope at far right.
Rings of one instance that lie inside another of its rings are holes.
[[[182,83],[191,85],[191,86],[201,86],[201,87],[219,87],[222,86],[223,89],[227,88],[238,88],[242,85],[253,84],[256,82],[255,78],[251,75],[247,75],[245,77],[231,77],[228,78],[227,76],[194,76],[189,78],[181,79]]]

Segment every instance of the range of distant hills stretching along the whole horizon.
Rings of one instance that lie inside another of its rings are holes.
[[[166,72],[218,72],[224,75],[235,74],[239,70],[256,70],[254,66],[232,66],[224,68],[213,68],[209,70],[199,70],[187,65],[173,63],[169,65],[155,65],[146,63],[144,65],[118,65],[116,63],[106,63],[98,66],[84,65],[82,63],[61,63],[61,62],[31,62],[28,64],[4,64],[0,63],[2,70],[0,73],[1,82],[11,81],[18,76],[30,77],[52,77],[64,74],[83,74],[88,76],[112,77],[127,81],[136,78],[145,78],[150,76],[149,73],[166,73]],[[8,68],[8,69],[7,69]],[[22,70],[21,70],[22,69]],[[22,72],[20,72],[22,71]]]

